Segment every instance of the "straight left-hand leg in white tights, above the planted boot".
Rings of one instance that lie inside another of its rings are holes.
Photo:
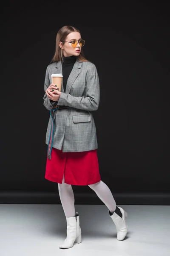
[[[62,208],[65,213],[65,217],[75,217],[74,207],[74,193],[72,186],[64,182],[64,175],[62,184],[58,183],[59,197],[61,200]]]

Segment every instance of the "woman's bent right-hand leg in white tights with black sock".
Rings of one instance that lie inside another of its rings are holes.
[[[96,195],[108,207],[111,214],[113,214],[113,212],[116,212],[120,217],[122,217],[122,213],[120,212],[120,209],[116,206],[116,202],[113,198],[111,190],[102,180],[100,180],[98,183],[88,186],[93,189],[94,192],[96,192]]]

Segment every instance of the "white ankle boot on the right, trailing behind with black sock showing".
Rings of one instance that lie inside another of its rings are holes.
[[[117,230],[117,240],[122,241],[125,236],[127,235],[127,229],[128,226],[126,224],[126,220],[125,217],[127,217],[127,212],[125,212],[124,209],[122,209],[121,207],[118,207],[120,209],[120,211],[122,212],[122,218],[116,214],[116,212],[113,212],[111,216],[115,226],[116,226],[116,230]]]

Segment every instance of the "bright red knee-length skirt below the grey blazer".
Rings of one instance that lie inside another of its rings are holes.
[[[45,179],[70,185],[86,186],[101,180],[96,149],[83,152],[62,152],[51,150],[51,160],[47,158]]]

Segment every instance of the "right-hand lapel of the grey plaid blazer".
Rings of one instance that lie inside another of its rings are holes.
[[[68,77],[68,80],[67,80],[67,85],[65,89],[66,94],[70,93],[70,90],[74,81],[77,79],[77,76],[79,76],[79,69],[81,67],[82,67],[82,62],[76,61],[73,66],[73,69],[71,70],[70,76]]]

